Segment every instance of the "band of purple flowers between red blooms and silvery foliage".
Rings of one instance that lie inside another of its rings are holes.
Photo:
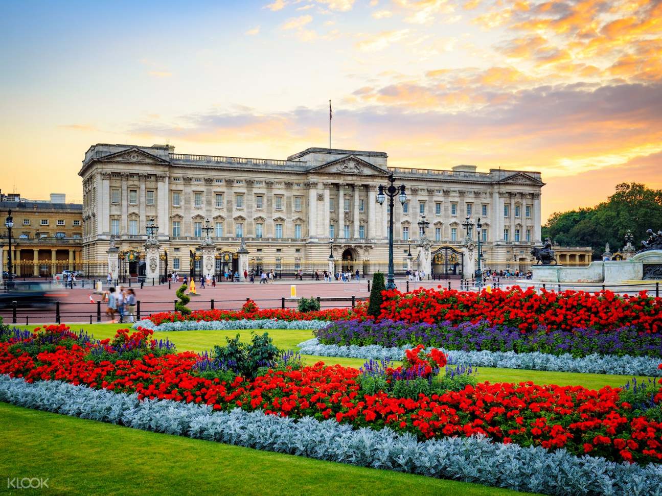
[[[538,327],[522,333],[516,327],[491,325],[488,321],[409,323],[388,319],[336,321],[314,332],[324,345],[379,345],[381,347],[444,347],[461,351],[514,351],[570,354],[575,358],[594,354],[662,357],[662,333],[641,333],[634,326],[597,333],[587,329]]]

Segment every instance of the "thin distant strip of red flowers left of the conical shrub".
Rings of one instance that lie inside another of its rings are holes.
[[[363,306],[357,306],[354,310],[351,308],[326,308],[318,311],[301,312],[294,308],[258,308],[253,300],[249,300],[242,306],[241,310],[193,310],[189,315],[183,315],[178,311],[162,311],[152,313],[148,319],[156,325],[165,322],[179,321],[214,321],[214,320],[258,320],[258,319],[278,319],[278,320],[346,320],[351,318],[361,318],[365,315]]]

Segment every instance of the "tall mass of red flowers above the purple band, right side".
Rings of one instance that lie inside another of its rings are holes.
[[[441,286],[439,286],[441,287]],[[594,329],[616,331],[634,326],[638,331],[662,331],[662,298],[641,292],[620,297],[610,291],[538,293],[514,287],[491,292],[418,289],[410,293],[383,292],[379,319],[436,323],[477,322],[518,327],[522,333],[538,327],[548,330]]]

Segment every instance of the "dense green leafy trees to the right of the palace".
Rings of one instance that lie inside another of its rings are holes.
[[[599,258],[604,243],[609,243],[612,252],[621,249],[628,229],[636,247],[647,239],[647,229],[662,229],[662,190],[620,183],[612,196],[592,208],[552,214],[542,234],[561,246],[591,246]]]

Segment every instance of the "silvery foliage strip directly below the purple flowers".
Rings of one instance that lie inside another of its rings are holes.
[[[340,358],[363,358],[365,360],[400,360],[406,349],[401,347],[381,347],[379,345],[324,345],[317,338],[299,343],[299,352],[315,356],[336,356]],[[549,370],[551,372],[580,372],[582,374],[614,374],[633,376],[656,376],[659,374],[659,359],[646,356],[603,356],[589,354],[575,358],[570,354],[549,354],[541,352],[516,353],[514,351],[461,351],[440,347],[448,356],[449,364],[473,365],[498,368],[525,368],[528,370]]]

